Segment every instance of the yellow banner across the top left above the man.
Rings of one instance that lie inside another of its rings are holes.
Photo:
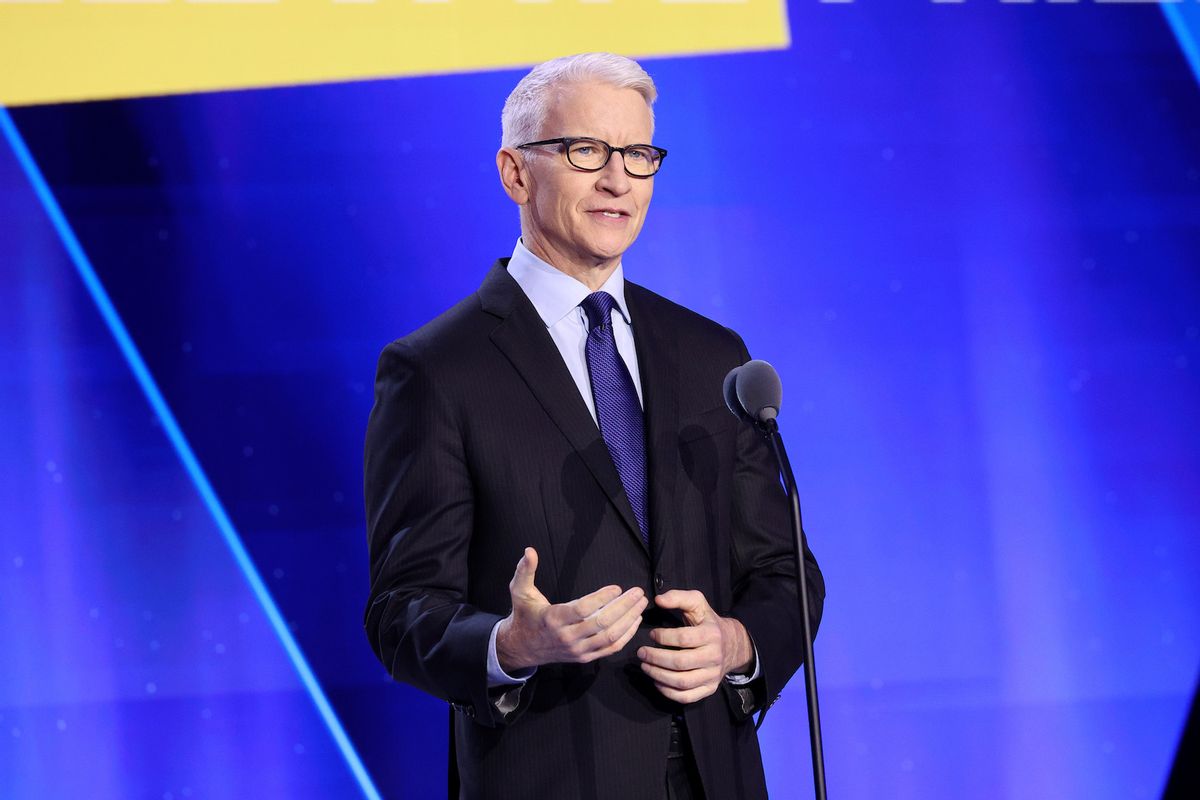
[[[787,47],[784,0],[0,0],[0,104]]]

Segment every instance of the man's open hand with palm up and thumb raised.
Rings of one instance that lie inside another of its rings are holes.
[[[548,663],[587,663],[620,650],[634,637],[649,604],[635,587],[604,587],[569,603],[551,606],[533,583],[538,551],[527,547],[509,583],[512,613],[496,632],[496,656],[511,673]]]

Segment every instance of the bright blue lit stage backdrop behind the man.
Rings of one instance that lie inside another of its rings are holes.
[[[881,5],[647,62],[626,273],[784,377],[833,796],[1156,798],[1200,666],[1195,76],[1156,7]],[[511,252],[520,74],[11,113],[0,796],[444,793],[445,704],[362,633],[361,444],[382,347]],[[776,708],[810,796],[799,678]]]

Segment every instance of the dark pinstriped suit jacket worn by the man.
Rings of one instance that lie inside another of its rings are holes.
[[[642,375],[650,547],[604,439],[533,305],[505,270],[384,349],[366,437],[366,630],[396,680],[452,706],[467,798],[661,800],[672,714],[684,714],[707,795],[766,796],[751,714],[800,664],[786,498],[766,444],[721,398],[749,359],[737,335],[626,282]],[[685,708],[638,668],[634,640],[589,664],[548,664],[500,714],[487,688],[492,626],[522,549],[565,602],[607,584],[698,589],[739,619],[762,676],[750,704],[721,691]],[[824,583],[805,553],[814,628]],[[452,756],[454,757],[454,756]]]

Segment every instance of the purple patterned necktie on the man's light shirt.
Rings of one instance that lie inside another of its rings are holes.
[[[612,309],[616,306],[617,301],[607,291],[593,291],[580,303],[588,315],[584,355],[588,360],[588,375],[592,378],[596,419],[600,421],[600,435],[608,446],[608,455],[617,467],[629,504],[634,506],[642,541],[649,546],[650,534],[646,519],[646,428],[634,379],[630,378],[612,336]]]

